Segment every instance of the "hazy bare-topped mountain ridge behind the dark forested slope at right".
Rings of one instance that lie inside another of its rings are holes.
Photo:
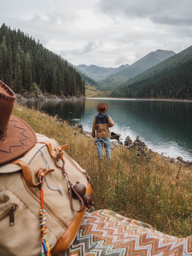
[[[159,62],[162,62],[164,59],[167,59],[175,54],[176,53],[173,51],[156,50],[155,52],[147,54],[122,71],[119,71],[118,73],[110,75],[108,78],[101,80],[100,83],[114,88],[115,86],[127,82],[148,68],[157,65]]]

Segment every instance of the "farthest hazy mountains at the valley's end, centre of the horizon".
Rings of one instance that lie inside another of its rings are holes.
[[[103,68],[103,67],[98,67],[96,65],[87,66],[87,65],[81,64],[76,67],[82,72],[85,72],[85,74],[91,77],[92,79],[99,81],[121,70],[124,70],[129,66],[130,66],[129,64],[125,64],[125,65],[121,65],[118,68]]]

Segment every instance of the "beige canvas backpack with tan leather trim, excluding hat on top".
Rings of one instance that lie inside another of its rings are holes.
[[[47,242],[53,256],[71,245],[86,210],[84,204],[93,204],[87,195],[92,190],[90,179],[63,151],[66,146],[36,135],[37,143],[24,156],[0,166],[2,256],[41,255],[39,188],[44,191]],[[76,182],[85,185],[84,201],[73,189]]]

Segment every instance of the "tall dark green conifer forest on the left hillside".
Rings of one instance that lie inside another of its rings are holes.
[[[67,60],[35,38],[5,24],[0,28],[0,80],[14,92],[85,95],[85,81]]]

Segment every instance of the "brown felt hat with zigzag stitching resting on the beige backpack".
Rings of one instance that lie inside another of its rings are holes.
[[[11,114],[15,99],[15,93],[0,80],[0,165],[24,155],[37,141],[33,129]]]

